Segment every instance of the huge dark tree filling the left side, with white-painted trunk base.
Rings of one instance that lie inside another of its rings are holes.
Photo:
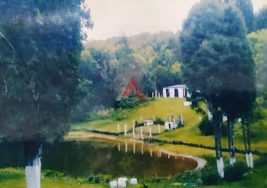
[[[40,188],[42,141],[68,131],[79,100],[81,27],[92,26],[82,0],[0,6],[0,134],[24,142],[28,188]]]

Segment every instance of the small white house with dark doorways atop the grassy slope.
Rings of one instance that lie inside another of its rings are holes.
[[[163,97],[167,98],[174,98],[174,97],[190,97],[190,94],[187,92],[186,85],[174,85],[174,86],[167,86],[163,87]]]

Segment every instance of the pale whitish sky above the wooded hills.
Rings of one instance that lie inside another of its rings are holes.
[[[200,0],[87,0],[94,21],[88,30],[88,40],[105,40],[125,33],[156,33],[160,30],[176,33],[195,2]],[[252,0],[254,12],[267,0]]]

